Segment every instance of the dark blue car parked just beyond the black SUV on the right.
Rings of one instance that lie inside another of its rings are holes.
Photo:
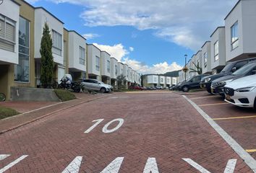
[[[200,81],[203,77],[207,75],[200,74],[198,76],[192,77],[189,81],[184,81],[180,86],[179,89],[181,89],[183,92],[188,92],[189,89],[200,89]]]

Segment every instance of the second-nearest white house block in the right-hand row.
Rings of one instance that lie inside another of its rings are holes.
[[[210,58],[213,74],[219,73],[226,66],[225,27],[217,27],[210,35]]]

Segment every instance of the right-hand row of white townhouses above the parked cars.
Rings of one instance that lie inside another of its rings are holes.
[[[187,62],[195,69],[199,63],[202,74],[217,74],[226,63],[256,57],[256,1],[239,0],[225,17],[225,25],[217,27],[201,50]],[[179,72],[180,81],[191,79],[197,73]]]

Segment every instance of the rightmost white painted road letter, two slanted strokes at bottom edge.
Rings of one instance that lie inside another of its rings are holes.
[[[200,164],[197,164],[192,159],[183,158],[183,160],[202,173],[210,173],[207,169],[202,167]],[[228,163],[226,164],[226,169],[224,170],[224,173],[233,173],[235,167],[236,167],[236,159],[229,159]]]

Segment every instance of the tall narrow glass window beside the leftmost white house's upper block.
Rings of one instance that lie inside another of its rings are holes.
[[[29,82],[30,79],[30,22],[20,17],[19,64],[14,66],[14,81]]]

